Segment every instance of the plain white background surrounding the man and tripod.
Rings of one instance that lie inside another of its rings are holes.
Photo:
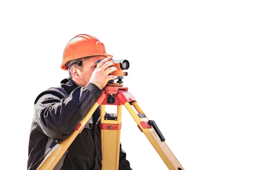
[[[253,0],[1,1],[0,169],[26,169],[34,99],[67,78],[65,45],[88,33],[130,62],[124,86],[185,170],[255,170],[255,9]],[[133,170],[167,170],[122,115]]]

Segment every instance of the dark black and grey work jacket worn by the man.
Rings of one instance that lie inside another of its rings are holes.
[[[56,140],[68,137],[82,121],[102,91],[92,83],[77,86],[63,79],[60,87],[48,88],[34,103],[34,117],[29,137],[27,170],[36,170]],[[101,170],[100,106],[74,139],[54,170]],[[121,149],[119,170],[131,170]]]

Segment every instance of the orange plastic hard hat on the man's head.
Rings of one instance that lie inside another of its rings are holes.
[[[106,53],[104,44],[98,38],[88,34],[76,35],[64,49],[61,69],[67,70],[71,60],[98,55],[112,57]]]

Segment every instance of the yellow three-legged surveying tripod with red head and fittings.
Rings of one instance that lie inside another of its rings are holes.
[[[127,61],[127,60],[126,60]],[[129,67],[129,66],[128,66]],[[128,68],[127,68],[128,69]],[[128,92],[127,87],[123,87],[122,79],[119,75],[115,83],[109,81],[103,88],[102,95],[96,100],[92,108],[85,115],[84,119],[74,129],[72,134],[66,139],[56,144],[52,150],[45,156],[36,170],[52,170],[68,147],[72,144],[79,132],[83,130],[86,122],[90,119],[94,111],[101,106],[100,128],[101,128],[101,148],[102,148],[102,169],[118,170],[119,151],[120,151],[120,133],[121,133],[121,113],[124,105],[130,115],[133,117],[137,126],[144,132],[152,146],[162,158],[169,170],[184,170],[180,162],[173,155],[165,143],[164,136],[153,120],[149,120],[143,110],[140,108],[135,97]],[[106,105],[116,105],[117,114],[106,113]],[[136,112],[137,113],[136,113]]]

